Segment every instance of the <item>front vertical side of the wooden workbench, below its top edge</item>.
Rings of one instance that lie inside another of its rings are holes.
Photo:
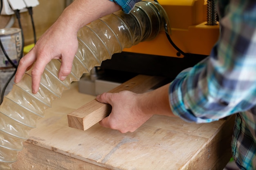
[[[36,146],[32,140],[24,142],[23,146],[22,152],[18,152],[18,161],[12,165],[13,170],[109,170],[55,152],[56,148]]]

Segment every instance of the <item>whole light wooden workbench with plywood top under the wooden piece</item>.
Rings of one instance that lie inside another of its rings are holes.
[[[67,114],[94,98],[72,83],[30,131],[13,169],[222,170],[231,157],[234,117],[192,124],[153,116],[125,134],[99,124],[85,131],[68,127]]]

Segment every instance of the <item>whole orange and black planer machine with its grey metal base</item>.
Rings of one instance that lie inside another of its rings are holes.
[[[112,55],[79,81],[79,92],[99,95],[138,75],[166,77],[170,82],[180,71],[207,57],[219,37],[214,0],[158,0],[171,30]]]

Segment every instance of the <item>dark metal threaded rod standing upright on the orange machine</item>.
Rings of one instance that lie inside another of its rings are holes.
[[[214,0],[207,0],[207,23],[206,25],[217,25],[217,11]]]

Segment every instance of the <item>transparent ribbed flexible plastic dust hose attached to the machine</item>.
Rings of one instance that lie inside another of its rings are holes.
[[[73,81],[83,73],[141,41],[155,38],[168,22],[164,9],[154,1],[138,2],[130,14],[118,11],[81,28],[77,34],[79,48],[74,57],[72,72],[64,80],[58,79],[61,60],[47,64],[41,77],[38,93],[31,91],[31,69],[27,71],[0,106],[0,169],[11,169],[17,160],[22,142],[29,138],[29,130],[36,128],[36,120],[44,116],[52,100],[61,97]]]

